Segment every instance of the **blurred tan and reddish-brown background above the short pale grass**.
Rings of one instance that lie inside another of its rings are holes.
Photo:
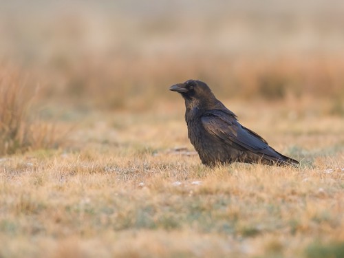
[[[344,1],[0,4],[1,80],[39,90],[42,103],[153,109],[178,98],[170,85],[195,78],[222,100],[344,114]]]

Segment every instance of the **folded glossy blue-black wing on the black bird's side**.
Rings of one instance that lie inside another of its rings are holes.
[[[234,116],[224,111],[207,111],[201,120],[208,133],[237,149],[255,153],[264,153],[265,150],[270,149],[266,140],[254,131],[240,125]]]

